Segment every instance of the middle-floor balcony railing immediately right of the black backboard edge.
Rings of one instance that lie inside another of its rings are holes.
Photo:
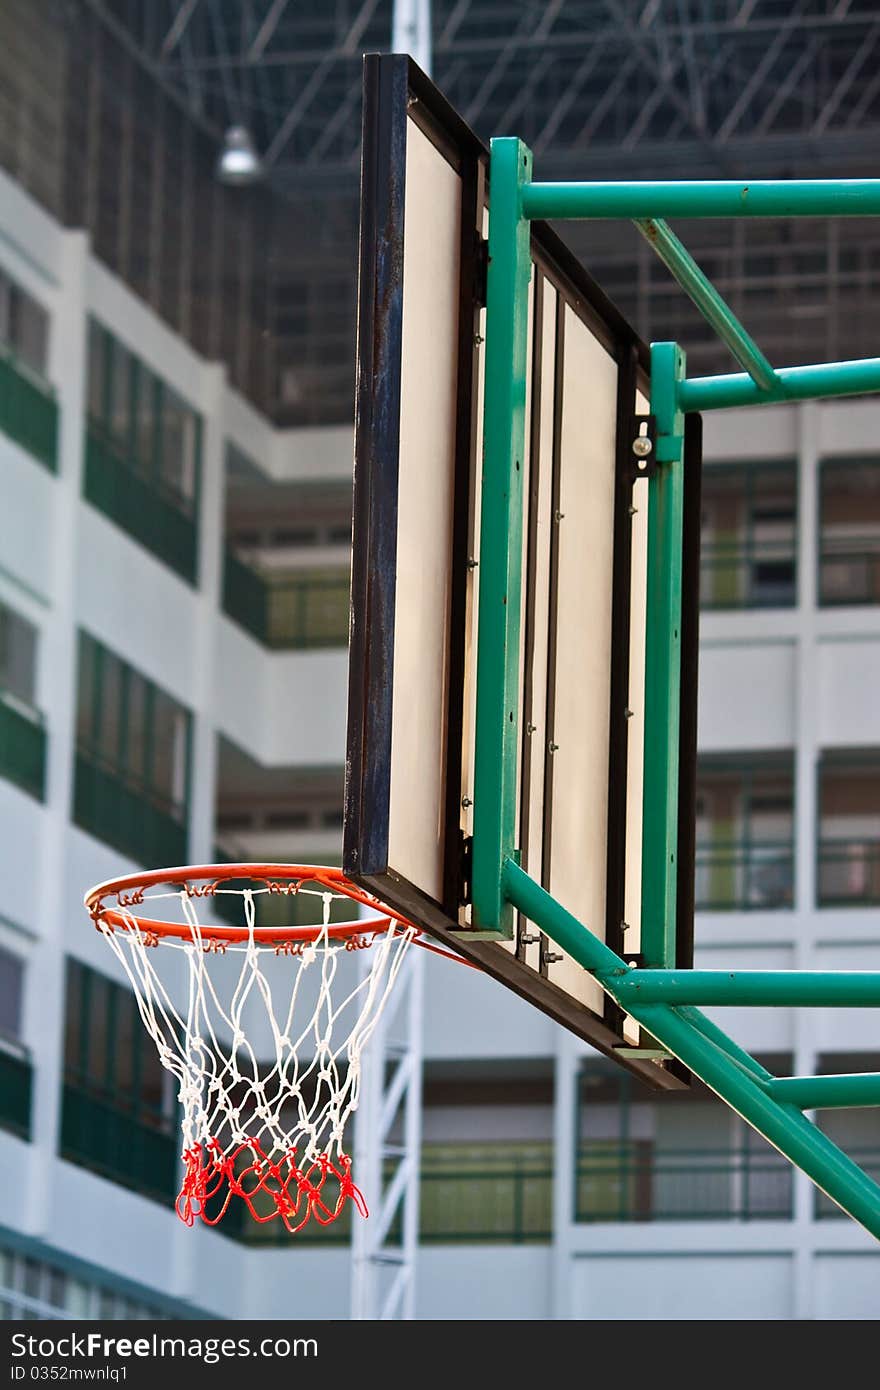
[[[791,908],[794,841],[712,841],[696,845],[696,910],[762,912]]]

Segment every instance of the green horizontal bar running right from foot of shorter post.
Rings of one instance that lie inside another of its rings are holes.
[[[633,1004],[880,1008],[877,970],[628,970],[614,994]]]

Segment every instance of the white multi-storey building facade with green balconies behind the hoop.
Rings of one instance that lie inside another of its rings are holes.
[[[0,177],[0,1307],[346,1316],[349,1232],[174,1215],[86,887],[339,852],[350,430],[277,430]],[[706,421],[696,960],[880,969],[880,403]],[[779,1072],[870,1011],[726,1011]],[[873,1318],[870,1238],[699,1088],[425,967],[421,1318]],[[880,1116],[830,1133],[880,1175]]]

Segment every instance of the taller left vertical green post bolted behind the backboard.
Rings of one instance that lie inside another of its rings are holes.
[[[474,774],[473,926],[513,935],[502,863],[516,844],[523,460],[530,227],[523,185],[531,153],[492,140],[480,520],[480,637]]]

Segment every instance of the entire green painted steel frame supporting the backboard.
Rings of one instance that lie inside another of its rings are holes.
[[[473,913],[509,938],[513,909],[588,970],[669,1052],[880,1240],[880,1184],[804,1115],[880,1105],[880,1073],[774,1077],[695,1005],[880,1008],[877,972],[676,970],[684,414],[880,392],[880,359],[774,368],[665,222],[667,217],[880,215],[880,179],[760,183],[534,183],[517,139],[492,140],[487,302]],[[530,220],[628,218],[744,374],[688,379],[676,343],[652,348],[658,467],[648,518],[642,967],[627,966],[519,865],[516,770]],[[488,518],[492,524],[488,524]]]

